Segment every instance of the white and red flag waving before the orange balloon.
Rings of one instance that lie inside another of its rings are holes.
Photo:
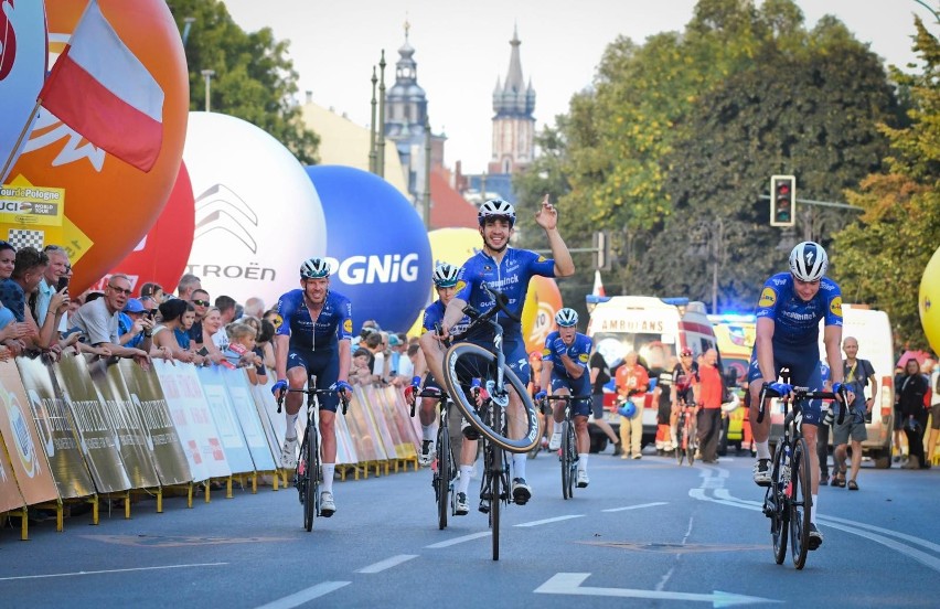
[[[92,0],[40,101],[85,139],[141,171],[163,142],[163,89]]]

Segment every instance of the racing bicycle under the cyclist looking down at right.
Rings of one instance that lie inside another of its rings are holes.
[[[845,389],[840,393],[844,404],[848,403]],[[784,397],[765,383],[760,388],[757,423],[765,416],[766,400],[771,397]],[[813,510],[810,447],[803,438],[801,403],[807,399],[833,399],[832,392],[811,392],[807,387],[793,387],[791,396],[783,403],[783,435],[777,440],[773,462],[770,467],[770,487],[763,498],[763,514],[770,519],[770,536],[773,539],[773,558],[782,565],[787,558],[787,537],[789,531],[790,556],[793,566],[802,569],[807,564],[810,549],[810,523]],[[792,409],[789,408],[792,400]],[[842,424],[845,408],[840,409],[838,423]],[[813,448],[815,450],[815,447]]]

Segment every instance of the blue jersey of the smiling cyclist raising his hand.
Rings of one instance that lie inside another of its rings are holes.
[[[460,282],[455,298],[463,300],[481,313],[485,313],[495,302],[480,287],[487,284],[492,290],[502,292],[509,299],[509,309],[522,314],[525,304],[525,292],[533,276],[555,277],[555,260],[540,256],[528,249],[506,247],[503,259],[496,263],[482,249],[470,257],[460,269]],[[506,339],[522,338],[517,321],[509,319],[500,312],[496,317]]]

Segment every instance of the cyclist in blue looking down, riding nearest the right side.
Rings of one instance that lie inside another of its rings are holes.
[[[842,355],[842,292],[838,285],[824,277],[829,266],[825,249],[818,243],[803,242],[790,253],[790,271],[770,277],[760,292],[757,303],[757,329],[750,357],[748,384],[750,389],[750,421],[757,463],[754,481],[761,487],[770,485],[770,417],[757,423],[760,389],[763,383],[781,393],[789,394],[792,386],[824,391],[838,391],[843,383]],[[823,383],[819,356],[819,323],[825,320],[823,342],[831,377]],[[777,383],[780,368],[790,370],[792,385]],[[850,394],[848,399],[852,399]],[[816,429],[821,423],[821,404],[810,400],[802,406],[802,434],[811,447],[816,445]],[[819,457],[810,450],[811,494],[813,510],[810,519],[810,549],[816,549],[823,541],[815,524],[819,512]]]

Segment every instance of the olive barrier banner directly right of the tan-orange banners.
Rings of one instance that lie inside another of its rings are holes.
[[[0,364],[4,371],[6,364]],[[78,431],[68,403],[58,387],[58,380],[41,360],[17,357],[19,374],[3,375],[3,386],[12,387],[21,382],[26,392],[33,423],[39,432],[40,445],[49,459],[52,479],[62,499],[77,499],[95,493],[92,472],[78,446]]]

